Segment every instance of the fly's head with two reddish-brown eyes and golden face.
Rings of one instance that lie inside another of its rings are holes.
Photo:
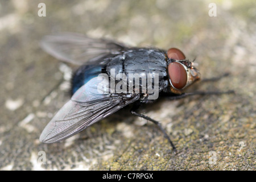
[[[179,49],[168,49],[167,57],[167,69],[172,93],[181,94],[187,86],[200,80],[200,73],[195,68],[194,63],[186,59],[184,53]]]

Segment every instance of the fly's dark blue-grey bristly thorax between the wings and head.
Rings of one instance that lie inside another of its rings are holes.
[[[146,93],[148,97],[154,95],[150,99],[156,99],[158,93],[168,86],[165,59],[164,52],[156,49],[124,51],[106,64],[109,85],[115,92]]]

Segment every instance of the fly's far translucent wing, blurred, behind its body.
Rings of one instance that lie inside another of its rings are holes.
[[[98,60],[110,53],[117,54],[127,48],[122,43],[75,33],[47,35],[40,46],[53,57],[76,65]]]

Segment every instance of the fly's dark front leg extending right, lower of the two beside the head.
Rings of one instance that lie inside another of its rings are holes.
[[[188,96],[221,95],[221,94],[232,94],[232,93],[234,93],[234,90],[228,90],[226,92],[195,91],[195,92],[183,93],[183,94],[180,94],[180,95],[177,95],[177,96],[167,96],[167,98],[169,100],[177,100],[177,99],[188,97]]]

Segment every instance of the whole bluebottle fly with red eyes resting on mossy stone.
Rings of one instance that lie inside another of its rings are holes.
[[[195,94],[224,93],[185,93],[187,86],[200,80],[200,73],[193,61],[186,59],[177,48],[166,51],[129,47],[112,40],[73,33],[46,36],[41,46],[57,59],[80,66],[72,78],[71,100],[40,135],[40,141],[44,143],[67,139],[133,104],[131,114],[158,125],[176,152],[160,122],[137,113],[139,106],[154,102],[159,94],[172,100]]]

